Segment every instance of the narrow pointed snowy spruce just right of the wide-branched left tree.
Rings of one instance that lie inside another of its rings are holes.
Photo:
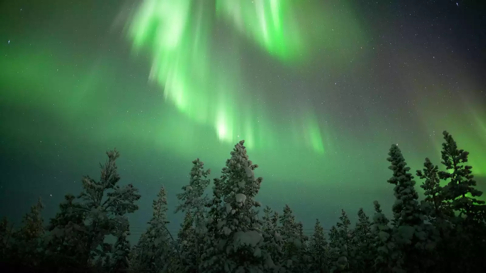
[[[167,270],[170,257],[173,255],[170,247],[170,234],[167,230],[167,193],[160,188],[157,198],[153,201],[152,219],[147,230],[139,239],[139,271],[159,272]]]

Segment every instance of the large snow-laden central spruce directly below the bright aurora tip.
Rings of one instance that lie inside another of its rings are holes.
[[[214,180],[215,196],[208,204],[208,232],[202,256],[203,273],[264,272],[274,268],[264,249],[264,234],[254,200],[262,178],[255,178],[254,165],[248,160],[244,140],[235,145],[226,160],[220,179]],[[220,201],[223,205],[219,205]]]

